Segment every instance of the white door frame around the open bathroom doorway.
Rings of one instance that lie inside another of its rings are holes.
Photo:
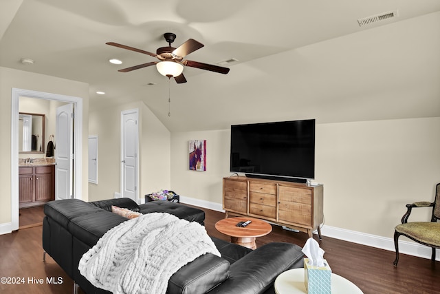
[[[73,103],[74,120],[74,198],[83,198],[83,98],[12,88],[11,112],[11,224],[10,231],[19,229],[19,98],[29,97]],[[5,230],[7,230],[5,228]],[[9,230],[8,230],[9,231]]]

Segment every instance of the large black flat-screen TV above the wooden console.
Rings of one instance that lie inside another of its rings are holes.
[[[315,177],[315,120],[231,126],[230,171]]]

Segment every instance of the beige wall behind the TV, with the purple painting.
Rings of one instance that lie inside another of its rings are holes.
[[[207,171],[188,169],[188,140],[207,140]],[[440,118],[316,125],[316,180],[324,185],[325,224],[393,237],[405,204],[432,201],[440,182]],[[222,202],[230,131],[171,134],[172,189]],[[428,211],[415,213],[429,220]]]

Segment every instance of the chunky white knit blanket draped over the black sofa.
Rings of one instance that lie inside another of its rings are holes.
[[[220,256],[201,224],[148,213],[107,231],[78,269],[91,284],[115,294],[160,294],[173,273],[205,253]]]

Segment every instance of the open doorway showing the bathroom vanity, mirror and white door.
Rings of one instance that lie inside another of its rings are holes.
[[[41,224],[45,203],[72,198],[73,114],[74,103],[19,97],[19,229]]]

